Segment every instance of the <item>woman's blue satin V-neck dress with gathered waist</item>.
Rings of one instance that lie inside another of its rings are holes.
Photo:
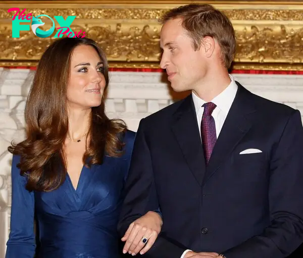
[[[13,157],[11,232],[6,258],[33,258],[34,210],[42,258],[120,257],[117,223],[123,201],[135,133],[127,131],[122,157],[105,157],[103,165],[83,167],[77,189],[67,176],[51,192],[29,192]]]

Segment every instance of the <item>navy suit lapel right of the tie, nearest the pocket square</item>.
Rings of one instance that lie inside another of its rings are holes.
[[[237,85],[238,90],[235,99],[213,149],[203,184],[220,168],[225,159],[230,156],[237,143],[251,127],[251,113],[256,111],[250,101],[249,95],[251,93],[238,82]]]

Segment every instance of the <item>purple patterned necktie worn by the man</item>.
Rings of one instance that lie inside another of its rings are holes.
[[[213,102],[208,102],[202,107],[204,107],[204,112],[201,121],[201,137],[206,164],[208,164],[217,140],[216,124],[214,118],[212,117],[212,113],[217,106]]]

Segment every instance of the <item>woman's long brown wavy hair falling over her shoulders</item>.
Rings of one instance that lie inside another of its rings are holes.
[[[43,53],[33,79],[25,106],[26,139],[8,148],[20,156],[18,168],[27,176],[29,191],[51,191],[66,179],[63,151],[68,132],[66,91],[70,78],[70,62],[78,45],[94,47],[104,64],[106,79],[102,103],[91,109],[89,143],[83,164],[102,164],[104,156],[119,157],[122,136],[127,127],[122,120],[111,120],[105,114],[105,93],[109,83],[108,62],[104,51],[88,38],[60,38]],[[87,136],[87,137],[88,137]]]

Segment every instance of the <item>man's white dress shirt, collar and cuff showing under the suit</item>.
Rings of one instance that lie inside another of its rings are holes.
[[[218,136],[221,132],[221,129],[223,127],[227,114],[230,110],[230,107],[232,105],[232,102],[235,99],[235,96],[236,96],[236,93],[238,90],[238,85],[235,83],[233,77],[231,75],[229,75],[229,77],[231,79],[231,82],[227,86],[227,88],[225,88],[218,96],[216,96],[215,98],[213,98],[211,100],[211,102],[213,102],[217,106],[212,113],[212,117],[214,118],[215,124],[216,124],[217,139],[218,139]],[[202,106],[206,103],[206,101],[199,98],[193,92],[191,92],[191,94],[192,94],[194,109],[195,109],[195,112],[197,115],[197,123],[198,123],[198,127],[199,127],[199,132],[201,135],[201,121],[202,121],[202,116],[203,116],[203,112],[204,112],[204,107],[202,107]],[[188,251],[191,251],[191,250],[185,250],[183,252],[181,258],[183,258],[185,253],[187,253]],[[214,250],[214,251],[216,251],[216,250]]]

